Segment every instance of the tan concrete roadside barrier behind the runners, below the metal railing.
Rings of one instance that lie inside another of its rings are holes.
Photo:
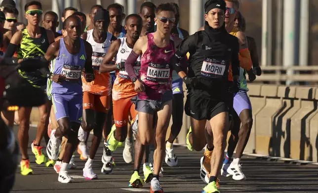
[[[318,161],[318,88],[261,84],[248,88],[254,122],[244,152]],[[31,124],[38,121],[34,108]],[[184,114],[178,144],[186,144],[189,128],[190,118]]]

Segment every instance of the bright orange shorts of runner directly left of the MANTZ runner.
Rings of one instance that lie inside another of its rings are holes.
[[[129,122],[129,113],[132,122],[135,121],[138,112],[135,110],[135,104],[131,101],[133,97],[135,96],[113,100],[113,114],[116,127],[121,128],[127,125]]]

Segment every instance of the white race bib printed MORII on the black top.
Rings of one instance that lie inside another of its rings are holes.
[[[201,76],[219,78],[224,76],[227,61],[205,58],[201,67]]]

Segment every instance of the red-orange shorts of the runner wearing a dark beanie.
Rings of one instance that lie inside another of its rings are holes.
[[[83,109],[93,109],[97,112],[107,113],[110,107],[110,95],[95,95],[83,92]]]

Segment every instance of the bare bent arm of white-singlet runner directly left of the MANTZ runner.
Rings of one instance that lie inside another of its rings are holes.
[[[112,42],[110,48],[108,49],[107,54],[105,55],[105,57],[103,59],[102,64],[100,64],[100,67],[99,67],[100,73],[118,70],[117,65],[111,64],[111,62],[113,61],[114,57],[118,53],[120,43],[121,43],[120,39],[117,39],[117,40]]]

